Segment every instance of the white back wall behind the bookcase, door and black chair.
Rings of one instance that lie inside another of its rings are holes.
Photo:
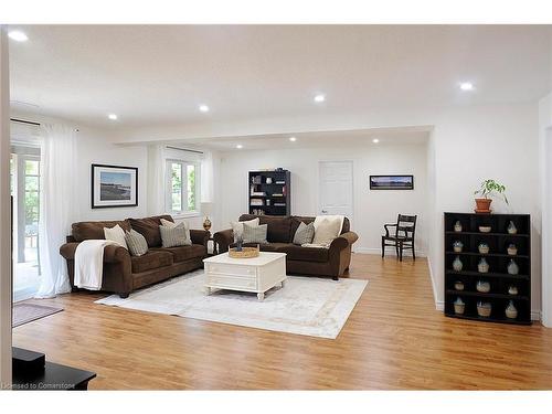
[[[315,138],[314,138],[315,139]],[[370,142],[367,137],[367,142]],[[351,229],[359,234],[357,252],[380,253],[384,223],[396,214],[417,214],[417,250],[427,251],[427,177],[425,145],[388,145],[245,150],[225,152],[221,159],[223,226],[247,213],[247,172],[282,167],[291,171],[291,214],[317,215],[319,161],[353,161],[354,216]],[[370,174],[414,174],[413,191],[370,191]],[[389,251],[391,254],[391,251]]]

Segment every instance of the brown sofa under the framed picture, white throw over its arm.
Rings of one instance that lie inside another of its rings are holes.
[[[119,224],[125,231],[130,229],[141,233],[148,242],[149,251],[142,256],[131,256],[125,248],[107,245],[104,250],[104,275],[102,290],[118,294],[121,298],[140,287],[168,279],[172,276],[203,267],[206,257],[209,232],[190,230],[191,246],[161,247],[160,219],[173,221],[170,215],[123,221],[78,222],[72,225],[72,235],[60,247],[67,261],[71,286],[74,288],[75,251],[85,240],[105,238],[104,227]]]

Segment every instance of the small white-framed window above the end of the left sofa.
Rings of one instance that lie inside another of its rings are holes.
[[[167,210],[173,214],[197,213],[199,182],[197,162],[167,160]]]

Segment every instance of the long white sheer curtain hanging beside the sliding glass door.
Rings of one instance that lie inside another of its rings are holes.
[[[60,255],[60,246],[71,233],[71,223],[75,217],[75,130],[68,126],[41,125],[41,286],[38,298],[54,297],[71,290],[67,266]]]

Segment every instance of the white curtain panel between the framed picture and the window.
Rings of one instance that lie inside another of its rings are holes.
[[[148,146],[148,214],[159,215],[164,208],[164,146]]]

